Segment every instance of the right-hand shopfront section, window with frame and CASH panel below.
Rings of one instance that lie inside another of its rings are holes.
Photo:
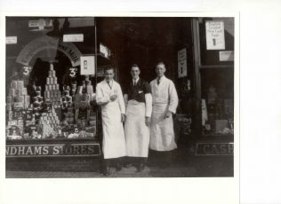
[[[233,155],[234,18],[193,20],[197,155]]]

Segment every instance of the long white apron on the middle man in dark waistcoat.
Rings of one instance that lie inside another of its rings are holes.
[[[124,123],[127,156],[148,157],[149,132],[149,126],[145,124],[145,104],[129,100]]]

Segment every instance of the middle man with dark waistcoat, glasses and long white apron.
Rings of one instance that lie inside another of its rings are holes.
[[[137,171],[142,171],[145,168],[149,155],[149,125],[152,112],[149,82],[142,80],[140,74],[141,70],[138,65],[132,65],[132,82],[124,91],[126,155],[129,161],[136,162]]]

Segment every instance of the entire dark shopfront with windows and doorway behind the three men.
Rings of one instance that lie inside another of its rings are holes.
[[[151,81],[158,61],[180,98],[177,144],[233,155],[233,18],[7,17],[6,36],[7,161],[94,162],[104,68],[124,88],[132,64]]]

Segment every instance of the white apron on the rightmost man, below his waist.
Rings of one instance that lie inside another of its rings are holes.
[[[174,141],[173,117],[165,118],[168,104],[154,103],[151,115],[149,148],[156,151],[170,151],[177,148]]]

